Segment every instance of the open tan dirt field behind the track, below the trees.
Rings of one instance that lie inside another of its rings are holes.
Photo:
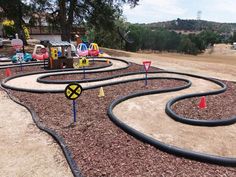
[[[201,55],[185,55],[177,53],[124,52],[103,49],[108,54],[128,61],[142,64],[151,60],[152,64],[161,69],[203,75],[222,80],[236,81],[236,50],[230,45],[217,44]],[[209,52],[212,50],[212,52]]]

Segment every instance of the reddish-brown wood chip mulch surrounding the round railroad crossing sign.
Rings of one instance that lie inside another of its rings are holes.
[[[72,120],[72,102],[64,94],[11,93],[65,139],[83,176],[236,176],[236,168],[176,157],[144,144],[114,125],[106,114],[120,96],[183,84],[162,79],[149,81],[148,87],[144,81],[107,86],[102,98],[98,98],[99,89],[86,90],[77,100],[77,125],[70,128],[66,127]]]

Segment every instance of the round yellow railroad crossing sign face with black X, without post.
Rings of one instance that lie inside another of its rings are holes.
[[[65,96],[69,100],[76,100],[82,93],[83,88],[78,83],[70,83],[65,88]]]

